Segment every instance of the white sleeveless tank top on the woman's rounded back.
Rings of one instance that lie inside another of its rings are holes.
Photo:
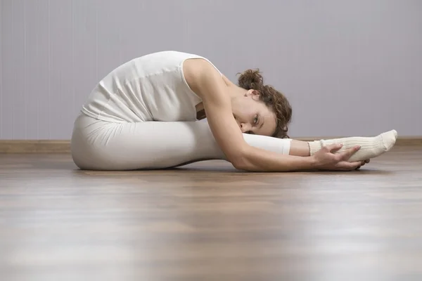
[[[120,65],[96,85],[82,112],[109,122],[196,120],[201,99],[184,78],[188,58],[203,57],[162,51]]]

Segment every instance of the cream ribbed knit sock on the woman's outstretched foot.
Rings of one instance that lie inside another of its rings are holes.
[[[350,137],[350,138],[335,138],[331,140],[309,141],[310,154],[314,155],[318,150],[326,145],[333,143],[343,144],[343,148],[338,150],[342,152],[355,145],[360,145],[360,149],[350,157],[349,162],[364,161],[378,157],[385,152],[388,152],[397,140],[397,131],[392,130],[374,137]]]

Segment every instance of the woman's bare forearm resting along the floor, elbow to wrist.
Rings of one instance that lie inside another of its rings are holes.
[[[314,157],[283,155],[252,146],[246,146],[242,156],[232,164],[236,169],[262,172],[302,171],[316,168]]]

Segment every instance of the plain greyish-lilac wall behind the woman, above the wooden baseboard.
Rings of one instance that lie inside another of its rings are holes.
[[[70,138],[99,79],[170,49],[260,67],[294,137],[422,135],[422,1],[0,1],[1,139]]]

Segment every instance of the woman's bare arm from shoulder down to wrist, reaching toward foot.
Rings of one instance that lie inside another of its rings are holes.
[[[184,75],[191,89],[202,98],[212,134],[229,162],[236,169],[246,171],[318,169],[319,162],[316,157],[282,155],[248,145],[243,139],[243,133],[231,111],[231,99],[226,83],[221,74],[206,60],[186,60]],[[338,159],[337,162],[341,160]],[[345,162],[342,169],[356,167],[357,164],[352,165]]]

